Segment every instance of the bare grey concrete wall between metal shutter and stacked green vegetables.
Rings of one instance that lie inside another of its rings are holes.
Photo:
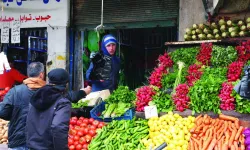
[[[195,23],[205,23],[205,21],[205,9],[202,0],[180,0],[179,41],[184,41],[186,28]]]

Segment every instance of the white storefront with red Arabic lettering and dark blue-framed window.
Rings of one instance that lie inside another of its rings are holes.
[[[21,73],[34,61],[47,72],[66,68],[68,6],[69,0],[1,3],[2,50]]]

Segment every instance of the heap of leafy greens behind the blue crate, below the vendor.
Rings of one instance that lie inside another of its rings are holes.
[[[130,91],[127,86],[119,86],[105,102],[107,103],[134,103],[136,99],[135,91]]]

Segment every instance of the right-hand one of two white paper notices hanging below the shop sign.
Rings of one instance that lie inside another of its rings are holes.
[[[20,43],[20,27],[21,23],[19,20],[12,21],[11,43]]]

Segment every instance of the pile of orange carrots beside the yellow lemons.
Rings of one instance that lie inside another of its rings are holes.
[[[238,118],[220,114],[213,119],[207,114],[195,119],[189,150],[245,150],[244,127]]]

